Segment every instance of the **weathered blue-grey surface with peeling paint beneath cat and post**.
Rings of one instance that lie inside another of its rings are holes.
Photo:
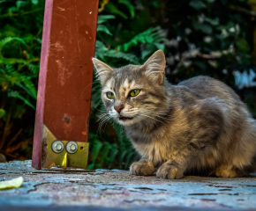
[[[256,210],[256,175],[167,180],[128,171],[42,171],[31,161],[0,164],[0,181],[22,176],[18,189],[0,191],[0,210]]]

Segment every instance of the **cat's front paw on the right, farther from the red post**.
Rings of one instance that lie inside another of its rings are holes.
[[[156,171],[156,177],[157,178],[183,178],[184,171],[171,163],[162,164],[162,166],[160,166],[158,171]]]

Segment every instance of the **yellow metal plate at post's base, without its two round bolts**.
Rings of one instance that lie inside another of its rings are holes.
[[[74,154],[70,154],[66,151],[65,145],[69,141],[62,141],[64,143],[64,150],[60,153],[55,153],[51,149],[52,142],[56,141],[56,137],[49,131],[49,129],[42,126],[42,155],[41,166],[42,168],[51,168],[51,166],[60,166],[64,168],[78,168],[87,169],[88,162],[88,142],[76,142],[79,146],[78,150]]]

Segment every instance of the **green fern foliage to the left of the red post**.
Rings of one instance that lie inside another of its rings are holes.
[[[44,2],[0,2],[0,152],[31,157]]]

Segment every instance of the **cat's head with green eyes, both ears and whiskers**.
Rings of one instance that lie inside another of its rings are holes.
[[[102,101],[119,124],[152,122],[166,109],[165,56],[161,50],[143,65],[112,68],[95,58],[93,62],[102,84]]]

